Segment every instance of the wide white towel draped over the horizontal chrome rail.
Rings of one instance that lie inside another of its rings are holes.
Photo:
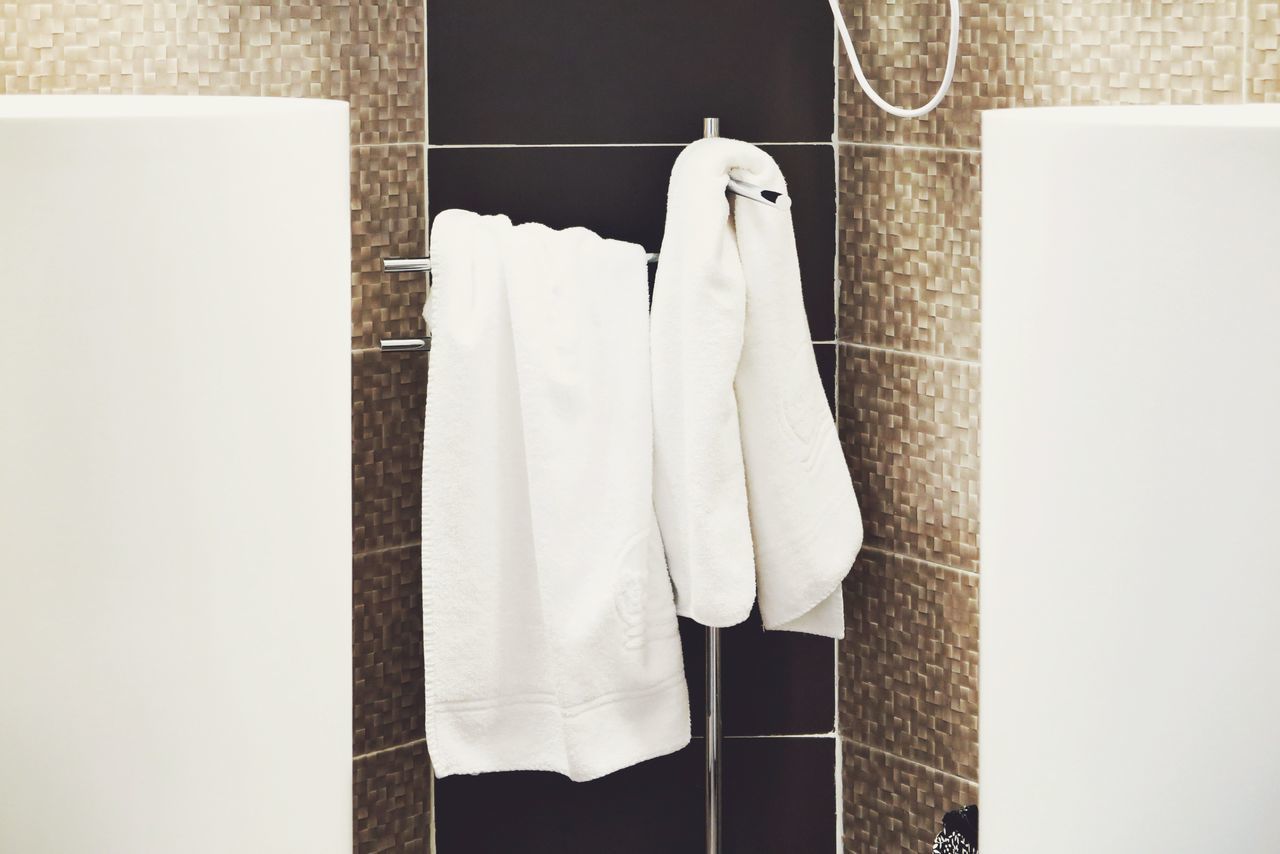
[[[422,472],[438,776],[591,780],[689,743],[653,512],[644,250],[444,211]]]

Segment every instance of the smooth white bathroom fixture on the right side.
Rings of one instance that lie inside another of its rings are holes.
[[[1275,850],[1280,105],[982,168],[983,854]]]

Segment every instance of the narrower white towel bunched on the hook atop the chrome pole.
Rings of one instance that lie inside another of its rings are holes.
[[[791,213],[726,198],[785,189],[773,159],[701,140],[676,160],[654,286],[655,503],[681,616],[840,638],[861,547],[818,375]]]

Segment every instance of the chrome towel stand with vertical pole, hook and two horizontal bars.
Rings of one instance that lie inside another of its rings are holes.
[[[719,136],[719,119],[703,119],[703,138]],[[774,207],[788,207],[790,197],[785,193],[756,187],[736,178],[730,178],[726,192],[731,192],[741,198],[750,198]],[[658,260],[657,252],[645,256],[645,261],[653,264]],[[429,257],[392,257],[383,261],[383,270],[387,273],[430,273],[431,259]],[[383,352],[413,352],[431,348],[430,338],[384,338],[379,342]],[[721,853],[721,814],[722,814],[722,780],[721,757],[724,734],[721,727],[721,644],[719,629],[707,629],[707,854]]]

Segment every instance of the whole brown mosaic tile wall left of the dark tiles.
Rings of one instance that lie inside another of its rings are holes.
[[[0,1],[0,95],[178,93],[351,102],[355,850],[426,851],[417,558],[426,364],[422,275],[384,255],[426,243],[422,0]]]

